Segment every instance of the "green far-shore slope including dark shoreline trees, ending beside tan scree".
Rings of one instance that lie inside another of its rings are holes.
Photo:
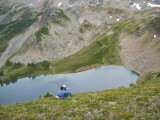
[[[0,69],[0,83],[9,83],[17,78],[40,74],[57,74],[65,71],[74,72],[76,69],[92,64],[115,64],[120,65],[121,59],[118,54],[117,34],[107,36],[100,35],[92,44],[82,48],[78,53],[62,60],[37,64],[23,65],[7,61]]]

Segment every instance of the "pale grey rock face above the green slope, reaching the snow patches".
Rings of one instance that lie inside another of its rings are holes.
[[[36,3],[36,0],[19,1],[27,5]],[[50,0],[49,2],[50,8],[42,10],[43,14],[39,16],[38,21],[23,35],[11,40],[9,47],[0,57],[1,65],[16,52],[11,61],[25,64],[72,55],[89,45],[99,33],[103,33],[106,29],[104,23],[116,22],[128,17],[141,17],[140,14],[131,13],[150,9],[147,3],[155,3],[152,0]],[[139,8],[136,5],[139,5]],[[127,15],[128,13],[130,15]],[[0,16],[0,23],[4,24],[16,19],[20,19],[18,15],[12,17],[6,14]],[[82,32],[80,29],[86,20],[92,27],[83,29]],[[42,40],[38,42],[35,33],[45,25],[49,35],[42,34]],[[25,46],[28,46],[27,50],[19,54],[18,51]]]

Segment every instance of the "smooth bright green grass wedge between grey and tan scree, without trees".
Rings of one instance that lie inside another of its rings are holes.
[[[92,64],[121,64],[118,54],[118,34],[100,35],[91,45],[55,64],[56,72],[74,71]]]

